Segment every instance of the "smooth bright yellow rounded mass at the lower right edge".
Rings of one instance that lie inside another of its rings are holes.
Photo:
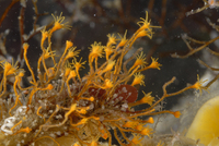
[[[219,146],[219,96],[201,106],[186,137],[200,139],[206,146]]]

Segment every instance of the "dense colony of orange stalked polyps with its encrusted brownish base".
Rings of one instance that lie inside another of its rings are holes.
[[[53,15],[54,16],[54,15]],[[147,36],[152,38],[152,26],[146,19],[138,22],[140,28],[129,38],[117,38],[115,35],[107,35],[108,42],[103,46],[101,42],[91,45],[88,63],[90,71],[87,75],[80,75],[85,61],[79,60],[79,50],[73,44],[66,41],[66,49],[58,62],[55,61],[56,51],[51,47],[53,33],[60,28],[70,26],[62,24],[64,16],[54,16],[54,26],[42,31],[41,47],[43,53],[37,61],[37,74],[34,73],[26,57],[32,46],[23,45],[24,59],[31,72],[31,86],[23,88],[21,78],[24,71],[18,69],[16,64],[1,61],[3,68],[3,80],[0,84],[1,107],[1,131],[10,135],[10,144],[14,145],[22,141],[22,145],[39,143],[51,139],[58,144],[60,137],[71,137],[73,145],[96,146],[102,137],[112,144],[113,131],[115,138],[120,145],[140,145],[145,136],[153,133],[148,125],[153,123],[151,115],[158,113],[171,113],[180,117],[180,111],[155,111],[155,106],[164,98],[183,93],[186,89],[203,89],[201,81],[185,87],[176,93],[168,94],[166,86],[174,82],[174,77],[163,85],[163,96],[154,100],[151,93],[143,93],[145,96],[137,100],[138,90],[136,85],[145,85],[142,71],[149,69],[160,70],[158,59],[147,65],[146,56],[142,49],[138,49],[134,57],[124,62],[124,57],[132,49],[135,40]],[[47,41],[46,46],[45,41]],[[140,53],[139,53],[140,52]],[[99,58],[105,58],[100,64]],[[127,69],[136,58],[131,68]],[[47,65],[47,60],[53,59],[54,66]],[[79,60],[79,61],[77,61]],[[41,68],[42,66],[42,68]],[[7,80],[14,76],[13,93],[8,102]],[[131,81],[132,80],[132,81]],[[131,84],[127,84],[131,82]],[[205,88],[204,88],[205,89]],[[134,107],[148,105],[149,108],[135,110]],[[148,115],[147,120],[142,117]],[[131,133],[132,136],[127,136]],[[122,136],[119,136],[122,135]],[[2,139],[1,143],[5,144]]]

